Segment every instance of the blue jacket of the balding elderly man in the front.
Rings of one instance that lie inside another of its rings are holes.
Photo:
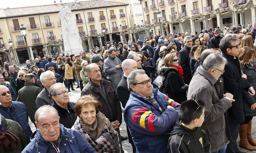
[[[84,137],[74,129],[67,129],[60,124],[60,143],[61,153],[96,153],[87,143]],[[31,143],[21,153],[53,153],[57,148],[52,147],[52,142],[45,141],[37,129],[30,137]]]

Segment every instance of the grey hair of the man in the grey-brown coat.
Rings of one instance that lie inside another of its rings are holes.
[[[224,62],[227,63],[227,59],[216,53],[212,53],[204,59],[203,69],[207,72],[213,68],[221,69]]]

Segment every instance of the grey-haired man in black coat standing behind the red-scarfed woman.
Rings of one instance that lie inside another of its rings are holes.
[[[186,36],[184,38],[185,47],[183,47],[180,52],[178,53],[179,56],[179,65],[182,67],[183,70],[183,80],[186,84],[189,85],[191,80],[191,69],[189,65],[189,54],[190,49],[193,45],[192,38],[190,36]]]

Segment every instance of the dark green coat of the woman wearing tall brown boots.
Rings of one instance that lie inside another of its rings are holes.
[[[253,68],[252,63],[246,63],[242,68],[242,71],[247,75],[247,81],[252,85],[254,89],[256,89],[256,70]],[[256,95],[251,96],[246,90],[243,90],[243,106],[245,116],[256,116],[256,109],[251,109],[251,105],[253,105],[255,102]]]

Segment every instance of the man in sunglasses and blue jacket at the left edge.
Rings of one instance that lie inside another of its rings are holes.
[[[22,102],[12,101],[10,90],[4,85],[0,85],[0,113],[5,119],[18,122],[22,127],[27,144],[30,142],[32,131],[28,124],[28,112],[26,106]]]

